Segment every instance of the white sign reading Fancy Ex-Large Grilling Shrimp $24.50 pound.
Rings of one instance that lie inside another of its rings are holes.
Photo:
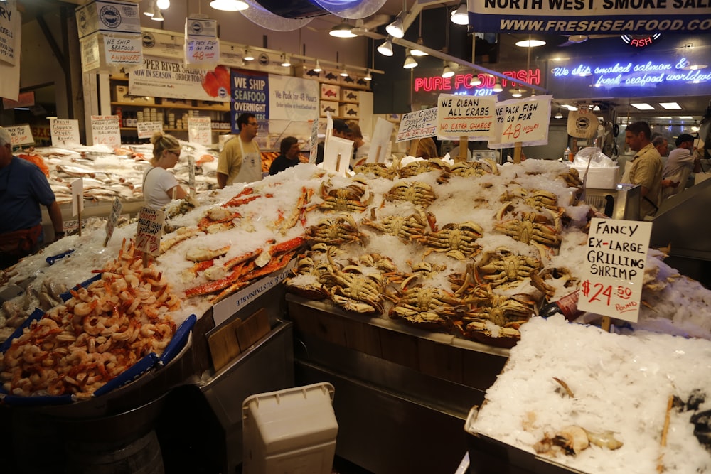
[[[593,218],[578,308],[636,322],[651,222]]]

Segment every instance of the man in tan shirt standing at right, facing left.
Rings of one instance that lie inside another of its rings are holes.
[[[640,216],[654,215],[661,200],[662,158],[649,140],[651,130],[647,122],[634,122],[625,130],[624,142],[637,153],[629,166],[628,182],[641,186]]]

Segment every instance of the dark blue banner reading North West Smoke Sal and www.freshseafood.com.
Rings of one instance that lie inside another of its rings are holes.
[[[710,0],[468,0],[477,32],[709,33]]]

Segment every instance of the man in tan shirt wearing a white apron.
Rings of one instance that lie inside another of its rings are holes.
[[[218,158],[218,188],[232,183],[254,183],[262,179],[262,154],[255,141],[260,124],[255,114],[237,117],[240,134],[225,143]]]

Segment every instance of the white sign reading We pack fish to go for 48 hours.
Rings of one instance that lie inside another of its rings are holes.
[[[552,95],[511,99],[496,104],[496,139],[489,148],[547,145]]]

